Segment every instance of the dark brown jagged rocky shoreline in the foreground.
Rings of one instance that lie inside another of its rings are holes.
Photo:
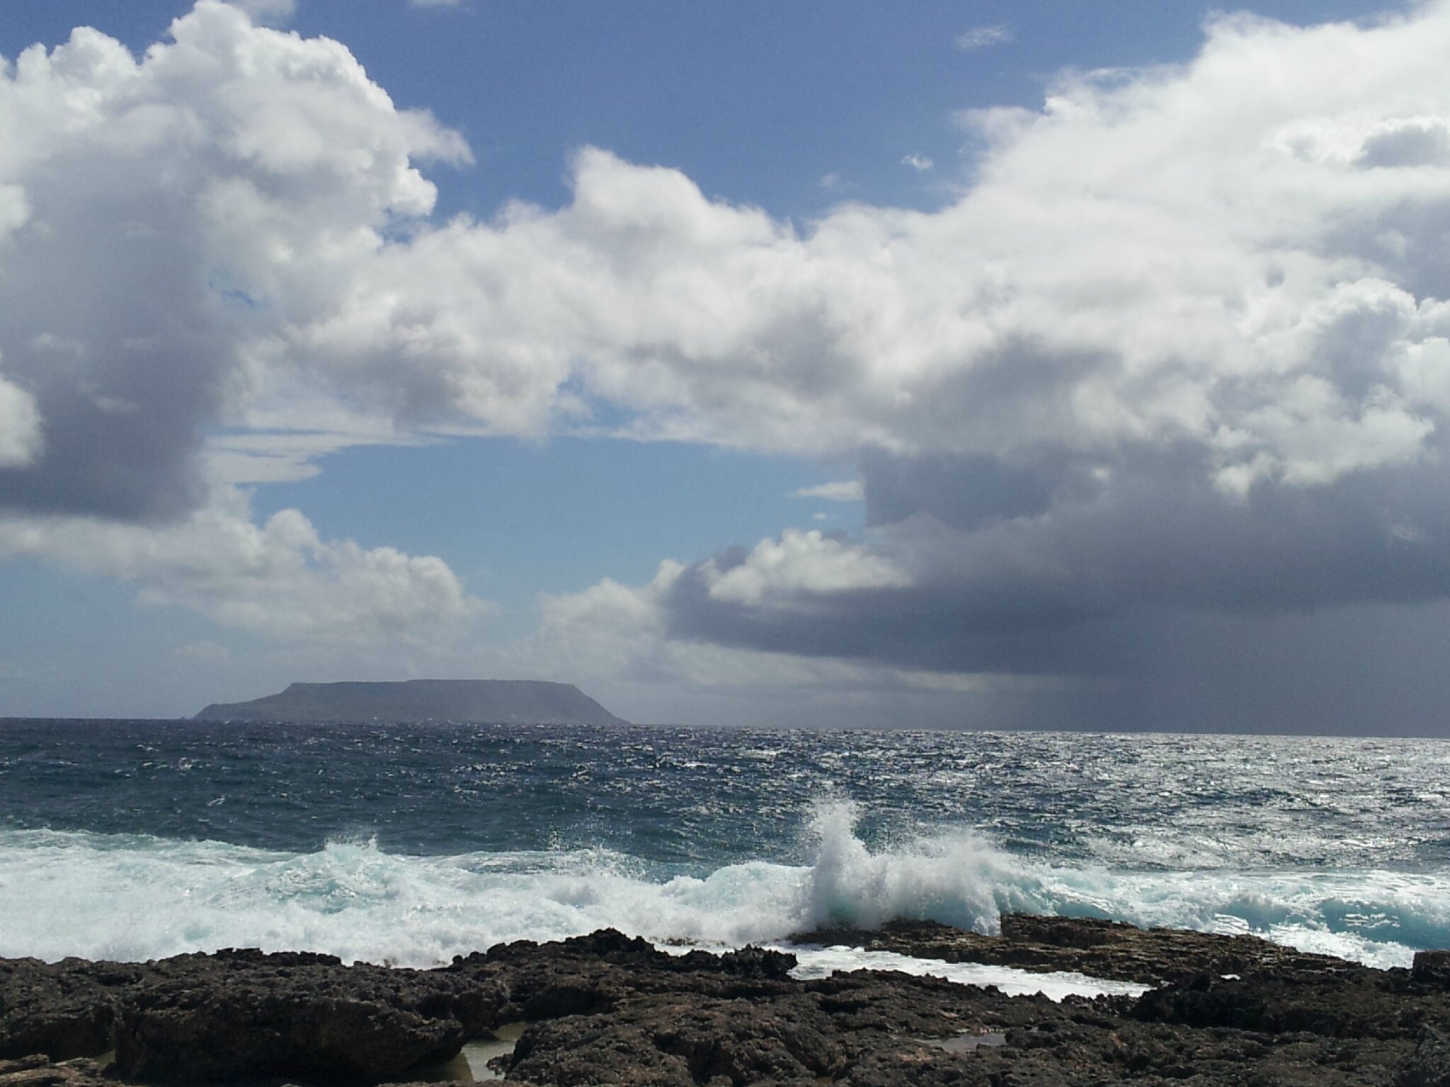
[[[1143,996],[1008,997],[890,971],[796,980],[747,948],[670,955],[596,932],[436,970],[220,951],[155,962],[0,959],[0,1087],[509,1083],[1385,1084],[1450,1087],[1450,952],[1370,970],[1253,936],[1009,916],[808,933],[948,962],[1137,981]],[[452,1061],[452,1064],[450,1064]]]

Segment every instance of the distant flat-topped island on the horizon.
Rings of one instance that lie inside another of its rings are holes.
[[[542,680],[294,683],[280,694],[268,694],[264,699],[215,703],[191,720],[629,723],[574,684]]]

